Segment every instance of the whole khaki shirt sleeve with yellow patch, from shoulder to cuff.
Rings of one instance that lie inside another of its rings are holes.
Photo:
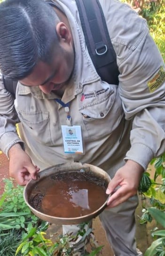
[[[119,95],[132,120],[125,160],[144,169],[165,152],[165,64],[147,22],[128,4],[99,0],[119,67]]]

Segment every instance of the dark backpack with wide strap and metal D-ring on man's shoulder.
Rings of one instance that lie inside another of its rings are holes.
[[[52,0],[46,0],[55,6]],[[118,85],[118,65],[99,0],[76,0],[86,47],[102,80]],[[17,80],[2,74],[5,88],[15,97]]]

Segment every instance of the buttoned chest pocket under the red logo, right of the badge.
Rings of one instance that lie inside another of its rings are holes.
[[[124,115],[118,93],[112,93],[101,101],[88,104],[80,112],[83,126],[88,136],[93,139],[110,136]]]

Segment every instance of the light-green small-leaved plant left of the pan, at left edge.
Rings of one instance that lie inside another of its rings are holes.
[[[4,179],[4,193],[0,197],[0,232],[10,229],[26,230],[40,224],[24,202],[24,187],[14,185],[12,179]]]

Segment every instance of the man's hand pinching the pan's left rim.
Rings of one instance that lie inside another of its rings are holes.
[[[30,179],[36,179],[39,168],[32,164],[31,158],[20,144],[13,145],[8,151],[9,175],[19,185],[26,185]]]

